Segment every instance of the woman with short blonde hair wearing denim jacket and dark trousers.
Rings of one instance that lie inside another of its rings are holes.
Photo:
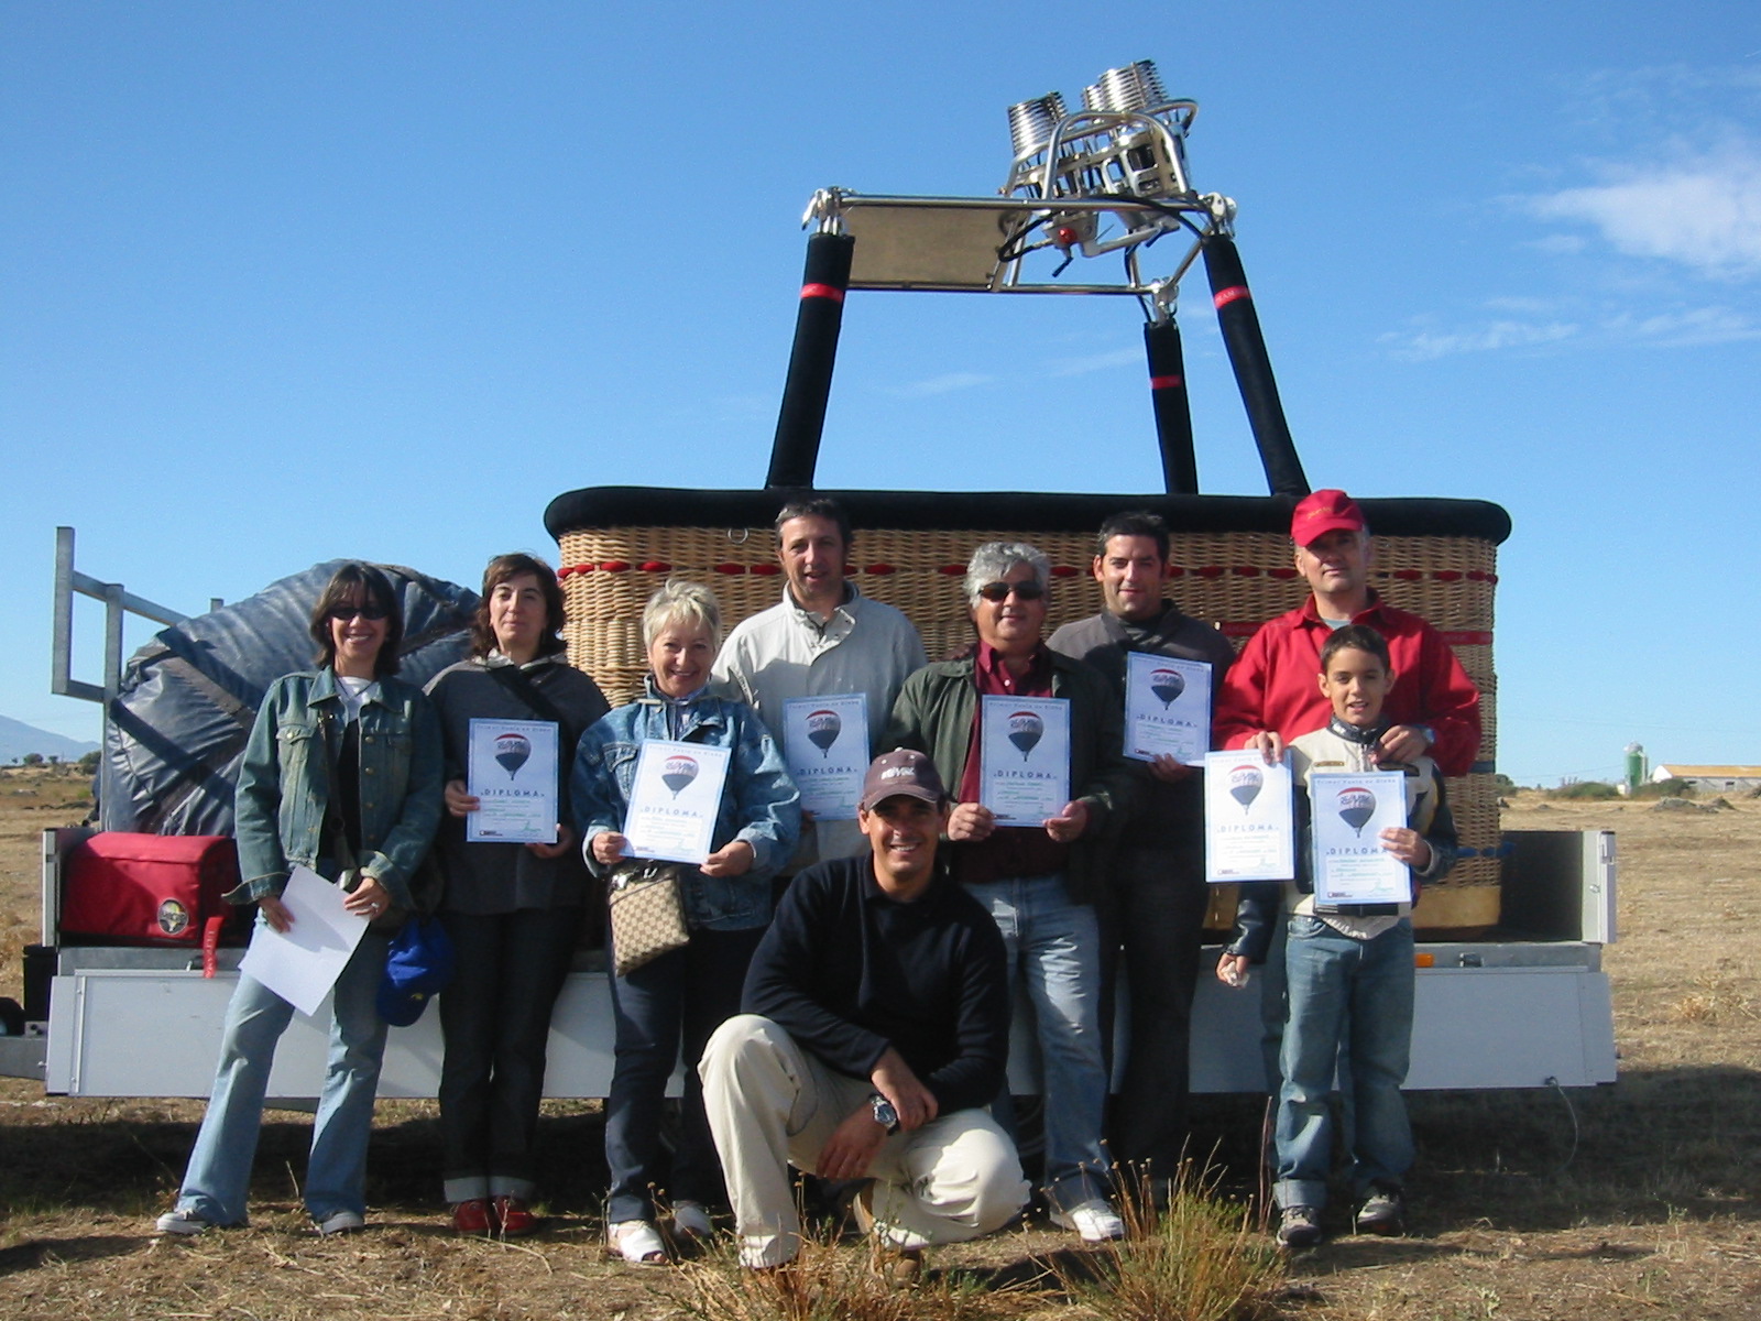
[[[706,692],[720,641],[720,608],[706,587],[667,583],[655,592],[643,611],[645,696],[588,729],[574,761],[574,815],[586,861],[604,875],[627,849],[623,815],[645,740],[733,752],[710,858],[685,872],[690,942],[611,979],[616,1064],[606,1099],[606,1224],[611,1247],[630,1265],[666,1261],[653,1192],[662,1182],[660,1104],[682,1044],[683,1124],[666,1189],[674,1231],[710,1235],[706,1208],[724,1192],[696,1066],[710,1034],[740,1013],[747,963],[771,918],[770,881],[801,831],[801,798],[757,712]]]

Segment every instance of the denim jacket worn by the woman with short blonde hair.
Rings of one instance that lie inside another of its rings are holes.
[[[711,932],[740,932],[763,926],[771,916],[770,879],[794,854],[801,833],[801,794],[784,768],[782,752],[764,729],[757,712],[743,701],[711,697],[699,690],[678,712],[678,733],[671,731],[667,708],[653,676],[646,694],[620,706],[581,734],[574,757],[574,819],[581,824],[581,849],[595,875],[604,875],[593,858],[593,837],[608,830],[623,831],[623,817],[636,782],[636,757],[643,740],[662,738],[676,743],[704,743],[733,750],[722,807],[715,819],[710,851],[733,840],[752,845],[752,870],[736,877],[710,877],[696,867],[685,872],[685,921]]]

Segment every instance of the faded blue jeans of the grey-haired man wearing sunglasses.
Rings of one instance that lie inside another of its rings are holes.
[[[1044,1067],[1046,1196],[1067,1210],[1109,1187],[1101,1150],[1108,1076],[1101,1053],[1101,926],[1060,874],[967,886],[1009,955],[1009,997],[1025,978]],[[1004,1089],[1007,1099],[1007,1087]],[[1009,1127],[1007,1104],[1002,1106]]]

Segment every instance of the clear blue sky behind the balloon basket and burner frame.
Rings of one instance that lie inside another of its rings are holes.
[[[97,731],[58,523],[194,613],[759,486],[814,188],[990,194],[1007,104],[1153,58],[1310,479],[1511,511],[1500,768],[1761,761],[1761,9],[1120,12],[0,0],[0,712]],[[1263,493],[1201,280],[1182,326],[1201,484]],[[1152,435],[1127,301],[856,296],[819,481],[1152,491]]]

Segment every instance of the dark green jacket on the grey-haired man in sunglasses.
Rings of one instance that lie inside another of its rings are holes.
[[[1124,712],[1101,671],[1051,652],[1051,696],[1071,701],[1071,793],[1088,807],[1088,826],[1071,845],[1065,884],[1078,904],[1094,904],[1106,882],[1109,840],[1136,805],[1138,784],[1125,763]],[[879,752],[926,752],[942,784],[960,793],[979,706],[974,660],[933,660],[900,689]]]

